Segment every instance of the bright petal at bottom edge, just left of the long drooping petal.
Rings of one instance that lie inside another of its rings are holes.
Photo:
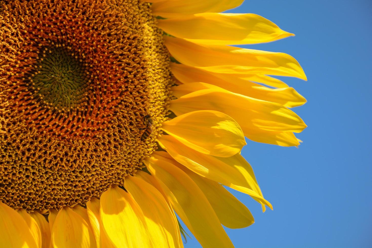
[[[163,195],[138,177],[125,177],[124,187],[142,209],[153,247],[179,247],[177,219]]]

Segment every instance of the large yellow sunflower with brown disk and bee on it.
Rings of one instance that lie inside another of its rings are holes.
[[[0,0],[0,247],[203,247],[264,199],[240,151],[298,146],[291,36],[243,0]],[[221,225],[222,224],[222,225]]]

